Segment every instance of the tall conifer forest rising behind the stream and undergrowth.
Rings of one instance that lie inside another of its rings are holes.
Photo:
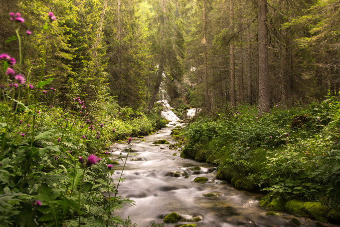
[[[207,111],[259,103],[258,8],[265,5],[270,106],[339,94],[340,0],[1,0],[0,49],[18,57],[8,12],[21,12],[24,69],[38,81],[46,14],[45,77],[63,108],[82,96],[152,107],[160,87],[172,104]],[[6,41],[7,40],[7,41]],[[261,54],[260,54],[261,57]],[[261,58],[262,59],[262,58]],[[92,105],[92,106],[93,106]]]

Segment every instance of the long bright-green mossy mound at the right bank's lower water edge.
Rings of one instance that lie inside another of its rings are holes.
[[[327,222],[328,209],[320,202],[302,202],[298,200],[288,201],[287,211],[304,217],[310,217],[320,222]]]

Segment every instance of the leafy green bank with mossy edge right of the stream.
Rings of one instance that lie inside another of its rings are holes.
[[[261,206],[339,223],[339,100],[256,113],[240,106],[196,118],[181,132],[181,156],[215,164],[236,189],[265,193]]]

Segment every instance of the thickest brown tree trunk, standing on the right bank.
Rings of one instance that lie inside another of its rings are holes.
[[[259,109],[261,115],[268,112],[270,105],[268,79],[268,31],[267,31],[267,0],[258,0],[258,49],[259,49]]]

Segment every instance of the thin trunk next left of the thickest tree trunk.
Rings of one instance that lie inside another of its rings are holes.
[[[229,23],[231,33],[234,33],[234,7],[233,0],[229,1]],[[230,42],[229,45],[229,53],[230,53],[230,102],[232,106],[236,106],[236,85],[235,85],[235,53],[234,53],[234,44]]]

